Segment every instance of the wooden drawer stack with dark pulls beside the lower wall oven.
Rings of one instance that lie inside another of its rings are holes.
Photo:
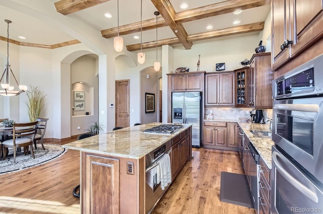
[[[259,213],[271,213],[271,170],[260,157],[259,163]]]

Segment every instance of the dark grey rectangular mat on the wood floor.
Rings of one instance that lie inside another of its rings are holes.
[[[220,200],[254,208],[246,176],[230,172],[221,172]]]

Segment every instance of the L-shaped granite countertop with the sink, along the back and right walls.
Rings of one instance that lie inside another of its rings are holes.
[[[250,120],[245,122],[240,121],[239,119],[204,119],[204,121],[237,122],[261,156],[264,163],[269,169],[272,169],[272,146],[274,145],[274,141],[270,138],[256,137],[250,132],[250,130],[271,131],[269,128],[270,123],[253,123]]]

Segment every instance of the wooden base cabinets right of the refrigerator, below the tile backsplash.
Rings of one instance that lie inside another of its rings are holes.
[[[204,121],[203,147],[237,151],[237,123]]]

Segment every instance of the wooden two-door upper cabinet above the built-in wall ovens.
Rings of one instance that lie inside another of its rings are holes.
[[[323,36],[321,0],[272,0],[272,69]]]

